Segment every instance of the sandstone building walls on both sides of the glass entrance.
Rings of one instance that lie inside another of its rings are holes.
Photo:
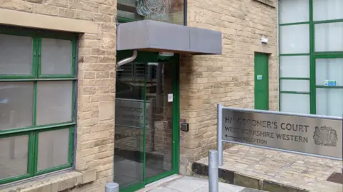
[[[98,192],[113,180],[114,119],[120,113],[114,111],[116,15],[116,0],[0,1],[0,28],[77,34],[74,163],[62,172],[1,183],[0,191]],[[174,23],[182,23],[178,19]],[[179,140],[182,174],[190,174],[192,162],[215,148],[217,103],[254,108],[255,52],[269,54],[269,109],[277,111],[279,102],[276,0],[188,0],[187,26],[221,31],[222,55],[180,55],[180,121],[189,123]],[[268,44],[261,43],[262,36]],[[0,143],[2,136],[6,133]]]

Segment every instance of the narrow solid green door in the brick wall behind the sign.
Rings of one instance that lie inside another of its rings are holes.
[[[269,110],[268,54],[255,53],[254,98],[255,109]]]

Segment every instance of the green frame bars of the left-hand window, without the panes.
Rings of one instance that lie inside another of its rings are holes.
[[[34,82],[34,99],[33,99],[33,125],[21,128],[9,128],[6,130],[0,130],[0,138],[10,138],[13,136],[29,136],[28,143],[28,162],[27,162],[27,173],[20,176],[14,176],[10,178],[0,179],[0,185],[19,181],[26,178],[33,178],[46,173],[51,173],[54,171],[61,171],[66,168],[71,168],[74,166],[74,131],[76,128],[76,44],[77,44],[77,34],[56,32],[56,31],[46,31],[39,29],[24,29],[12,26],[1,26],[0,34],[16,35],[16,36],[30,36],[33,40],[32,44],[32,67],[30,75],[0,75],[0,82],[9,81],[29,81]],[[61,74],[61,75],[45,75],[41,74],[41,39],[62,39],[69,40],[72,44],[71,54],[71,74]],[[41,126],[36,126],[36,105],[37,105],[37,84],[40,81],[72,81],[72,99],[71,99],[71,121],[63,123],[51,123]],[[39,133],[44,131],[56,131],[60,129],[69,129],[69,149],[68,149],[68,163],[48,168],[46,170],[37,171],[37,161],[38,161],[38,145],[39,145]]]

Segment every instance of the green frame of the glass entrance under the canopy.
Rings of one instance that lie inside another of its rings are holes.
[[[125,59],[131,56],[133,51],[117,51],[116,52],[116,59],[117,61],[121,59]],[[179,173],[179,54],[175,54],[171,57],[161,57],[156,52],[149,52],[149,51],[138,51],[137,57],[134,60],[137,63],[148,63],[148,62],[160,62],[160,63],[167,63],[173,65],[173,131],[172,131],[172,140],[173,140],[173,151],[172,151],[172,170],[161,173],[161,175],[154,176],[152,178],[145,177],[145,166],[146,166],[146,129],[144,128],[144,139],[143,139],[143,178],[144,182],[138,184],[132,184],[130,186],[126,186],[125,188],[120,188],[120,192],[131,192],[139,190],[140,188],[144,188],[146,184],[158,181],[161,178],[166,176],[171,176],[173,174]],[[145,89],[144,89],[145,90]],[[146,94],[144,94],[144,101],[146,101]],[[145,102],[144,102],[145,108]],[[144,110],[145,111],[145,110]],[[144,112],[145,113],[145,112]],[[145,114],[144,114],[145,116]],[[145,120],[145,119],[144,119]],[[145,125],[145,122],[144,122]],[[115,170],[114,170],[115,171]]]

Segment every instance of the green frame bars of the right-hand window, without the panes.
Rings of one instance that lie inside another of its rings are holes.
[[[280,1],[280,0],[279,0]],[[280,3],[279,9],[280,10]],[[279,18],[280,12],[278,11]],[[343,19],[331,19],[331,20],[322,20],[322,21],[313,21],[313,0],[309,0],[309,21],[304,22],[297,22],[297,23],[286,23],[280,24],[280,19],[278,21],[279,24],[279,45],[280,45],[280,26],[292,26],[292,25],[301,25],[301,24],[309,24],[309,53],[304,54],[279,54],[279,111],[282,111],[281,108],[281,94],[309,94],[309,102],[310,102],[310,113],[316,114],[317,113],[317,103],[316,103],[316,89],[317,88],[324,88],[324,89],[343,89],[343,86],[317,86],[316,85],[316,59],[335,59],[335,58],[343,58],[343,50],[342,51],[324,51],[324,52],[316,52],[314,51],[314,25],[315,24],[330,24],[330,23],[337,23],[343,22]],[[280,52],[280,46],[279,46]],[[281,56],[309,56],[309,78],[294,78],[294,77],[280,77],[280,57]],[[281,80],[283,79],[290,79],[290,80],[309,80],[309,92],[297,92],[297,91],[281,91]]]

